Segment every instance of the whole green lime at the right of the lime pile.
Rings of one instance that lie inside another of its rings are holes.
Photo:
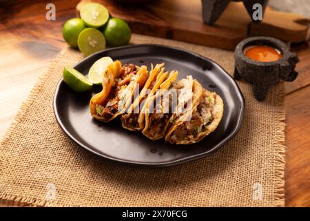
[[[130,41],[132,32],[130,27],[122,19],[110,19],[103,32],[107,45],[111,47],[125,46]]]

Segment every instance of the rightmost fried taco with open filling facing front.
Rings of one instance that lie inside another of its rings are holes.
[[[178,117],[165,137],[171,144],[194,144],[213,132],[223,117],[223,99],[204,89],[192,113]]]

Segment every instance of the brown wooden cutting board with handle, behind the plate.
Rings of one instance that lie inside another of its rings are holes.
[[[249,35],[276,37],[299,42],[308,38],[304,17],[267,8],[261,23],[251,22],[242,3],[231,2],[214,26],[203,23],[199,0],[153,0],[145,4],[125,4],[113,0],[81,0],[76,9],[89,2],[99,2],[112,17],[124,19],[132,32],[178,41],[234,50]]]

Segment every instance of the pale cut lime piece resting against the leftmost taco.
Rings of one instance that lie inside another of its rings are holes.
[[[107,66],[112,63],[113,60],[111,57],[102,57],[90,67],[88,78],[92,81],[92,84],[101,84],[103,75],[107,71]]]

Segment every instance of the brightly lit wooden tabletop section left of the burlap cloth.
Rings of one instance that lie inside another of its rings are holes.
[[[75,16],[74,6],[54,1],[56,21],[46,21],[47,1],[0,2],[0,134],[12,122],[19,106],[50,60],[66,44],[63,22]]]

